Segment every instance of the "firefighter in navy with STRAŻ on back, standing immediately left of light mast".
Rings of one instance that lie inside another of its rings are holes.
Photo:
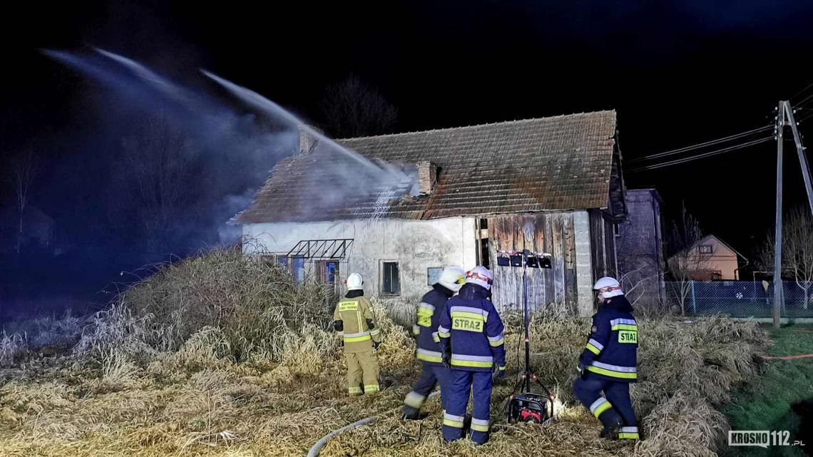
[[[443,414],[443,439],[463,437],[463,422],[472,392],[472,441],[489,441],[491,386],[505,374],[506,351],[502,320],[489,300],[493,276],[485,267],[466,273],[466,283],[446,302],[437,334],[441,359],[450,368]]]

